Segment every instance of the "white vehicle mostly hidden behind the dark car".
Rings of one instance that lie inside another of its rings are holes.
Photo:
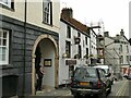
[[[114,84],[114,79],[115,79],[116,77],[114,76],[112,70],[111,70],[111,68],[110,68],[109,65],[105,65],[105,64],[104,64],[104,65],[95,65],[94,68],[104,69],[107,75],[110,74],[110,76],[108,76],[108,78],[110,79],[111,85]]]

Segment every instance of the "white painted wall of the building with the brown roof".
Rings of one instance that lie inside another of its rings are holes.
[[[78,37],[78,29],[71,27],[71,38],[67,38],[67,24],[60,22],[60,35],[59,35],[59,85],[64,84],[63,79],[69,79],[69,65],[66,65],[67,58],[62,58],[62,54],[66,53],[66,40],[71,41],[71,58],[74,58],[74,54],[78,53],[78,45],[74,45],[74,37]],[[81,34],[81,47],[82,47],[82,59],[76,59],[76,65],[83,63],[85,64],[85,60],[83,56],[86,53],[86,48],[88,48],[90,52],[90,38],[87,39],[87,46],[85,45],[85,35]],[[84,45],[84,47],[83,47]]]

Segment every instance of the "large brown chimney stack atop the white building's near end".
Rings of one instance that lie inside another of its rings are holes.
[[[61,16],[62,17],[73,17],[73,10],[71,8],[63,8]]]

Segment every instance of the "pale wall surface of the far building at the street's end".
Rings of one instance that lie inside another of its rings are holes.
[[[105,37],[105,45],[109,45],[114,41],[114,39]],[[107,46],[106,48],[106,61],[108,61],[110,64],[116,66],[116,73],[120,72],[121,65],[127,65],[129,62],[127,61],[127,56],[129,56],[129,52],[127,51],[127,46],[129,46],[129,42],[124,37],[121,37],[120,41],[123,42],[118,42],[118,44],[111,44]],[[122,45],[122,52],[120,52],[120,45]],[[119,56],[123,56],[123,63],[120,63],[120,58]],[[115,59],[114,59],[115,58]],[[118,58],[118,59],[117,59]]]

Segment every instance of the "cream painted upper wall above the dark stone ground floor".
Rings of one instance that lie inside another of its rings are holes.
[[[27,23],[59,33],[60,1],[52,1],[52,26],[43,23],[43,0],[27,0]],[[14,0],[14,11],[0,8],[0,14],[24,22],[24,0]]]

